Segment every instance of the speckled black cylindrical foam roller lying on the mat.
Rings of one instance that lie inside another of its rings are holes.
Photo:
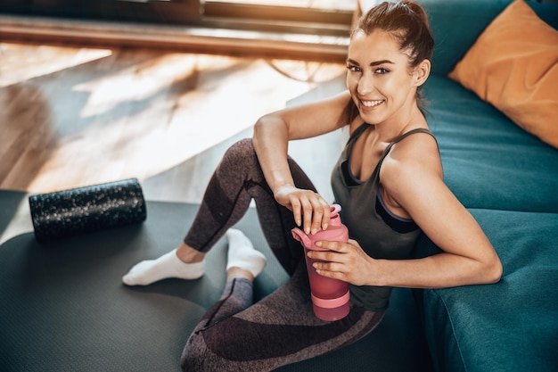
[[[29,196],[39,242],[143,222],[144,193],[136,178]]]

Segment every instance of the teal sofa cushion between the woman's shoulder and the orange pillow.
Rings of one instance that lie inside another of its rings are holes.
[[[440,76],[425,85],[447,186],[470,208],[558,212],[558,150]]]

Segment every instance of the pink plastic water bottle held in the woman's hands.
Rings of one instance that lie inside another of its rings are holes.
[[[349,240],[349,230],[341,223],[340,211],[341,205],[332,205],[330,224],[326,230],[320,230],[315,235],[307,235],[300,228],[293,228],[291,230],[292,236],[300,241],[305,248],[305,252],[308,252],[308,250],[327,251],[327,249],[316,247],[316,242],[320,240],[347,242]],[[316,269],[312,266],[317,261],[306,256],[314,314],[317,318],[328,321],[344,318],[350,310],[349,284],[339,279],[318,275]]]

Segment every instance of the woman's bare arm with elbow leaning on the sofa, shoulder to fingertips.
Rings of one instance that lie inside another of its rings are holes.
[[[390,198],[443,252],[417,260],[374,260],[357,242],[323,242],[324,247],[335,252],[310,253],[313,258],[331,261],[318,264],[321,275],[355,285],[414,288],[488,284],[499,280],[502,265],[492,244],[444,184],[438,157],[431,146],[435,146],[433,141],[429,145],[428,141],[409,138],[386,159],[381,177]],[[426,155],[412,157],[410,153]]]

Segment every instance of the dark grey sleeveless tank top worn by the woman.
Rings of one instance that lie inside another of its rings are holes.
[[[350,169],[350,153],[357,138],[369,127],[369,124],[363,124],[353,132],[332,171],[335,203],[341,205],[341,221],[349,228],[349,237],[355,239],[366,254],[375,259],[406,259],[409,258],[421,230],[412,221],[409,221],[412,225],[406,225],[413,226],[412,228],[394,228],[385,213],[382,213],[386,210],[382,205],[378,205],[380,168],[391,147],[407,136],[415,133],[433,135],[428,129],[417,128],[399,136],[383,151],[370,178],[364,182],[352,182],[346,178]],[[383,311],[388,307],[391,288],[350,285],[350,292],[352,302],[366,310]]]

